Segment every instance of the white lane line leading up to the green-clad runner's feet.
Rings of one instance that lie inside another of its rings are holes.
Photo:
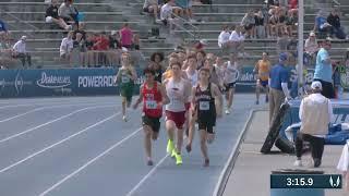
[[[32,155],[29,155],[28,157],[26,157],[26,158],[24,158],[24,159],[22,159],[22,160],[20,160],[20,161],[17,161],[17,162],[9,166],[9,167],[5,167],[5,168],[1,169],[1,170],[0,170],[0,173],[3,173],[3,172],[5,172],[5,171],[9,171],[10,169],[12,169],[12,168],[14,168],[14,167],[16,167],[16,166],[25,162],[25,161],[27,161],[27,160],[29,160],[29,159],[38,156],[38,155],[40,155],[40,154],[43,154],[43,152],[45,152],[45,151],[47,151],[47,150],[49,150],[49,149],[51,149],[51,148],[55,148],[55,147],[58,146],[58,145],[61,145],[61,144],[70,140],[70,139],[76,137],[77,135],[81,135],[81,134],[87,132],[88,130],[91,130],[91,128],[93,128],[93,127],[96,127],[96,126],[98,126],[98,125],[100,125],[100,124],[103,124],[103,123],[105,123],[105,122],[107,122],[107,121],[110,121],[111,119],[116,118],[116,117],[119,115],[120,113],[121,113],[121,112],[115,113],[115,114],[112,114],[112,115],[110,115],[110,117],[108,117],[108,118],[106,118],[106,119],[104,119],[104,120],[101,120],[101,121],[99,121],[99,122],[97,122],[97,123],[95,123],[95,124],[93,124],[93,125],[91,125],[91,126],[88,126],[88,127],[86,127],[86,128],[84,128],[84,130],[82,130],[82,131],[80,131],[80,132],[77,132],[77,133],[69,136],[69,137],[65,137],[64,139],[62,139],[62,140],[60,140],[60,142],[58,142],[58,143],[55,143],[55,144],[52,144],[52,145],[50,145],[50,146],[48,146],[48,147],[46,147],[46,148],[44,148],[44,149],[35,152],[35,154],[32,154]]]

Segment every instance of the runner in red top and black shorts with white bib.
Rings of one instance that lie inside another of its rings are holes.
[[[133,106],[136,109],[143,101],[143,131],[144,148],[147,158],[147,166],[153,166],[152,160],[152,138],[156,140],[160,131],[160,119],[163,117],[163,106],[169,103],[165,87],[155,81],[155,71],[144,70],[145,82],[140,88],[140,98]]]

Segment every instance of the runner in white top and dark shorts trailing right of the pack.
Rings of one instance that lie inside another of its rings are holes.
[[[236,54],[230,56],[230,61],[227,62],[227,69],[225,71],[224,83],[226,87],[226,100],[227,109],[226,114],[230,114],[233,94],[236,91],[236,85],[239,77],[239,63]]]

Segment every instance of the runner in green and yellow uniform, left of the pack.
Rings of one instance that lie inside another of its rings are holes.
[[[120,84],[120,94],[122,97],[122,120],[124,122],[128,121],[127,118],[127,107],[130,108],[134,82],[137,79],[137,74],[134,68],[131,65],[131,57],[130,53],[122,53],[121,56],[121,69],[117,74],[116,81]]]

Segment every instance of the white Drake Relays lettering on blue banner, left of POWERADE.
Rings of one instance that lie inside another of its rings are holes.
[[[48,75],[46,72],[41,73],[41,78],[36,82],[43,88],[63,88],[70,86],[70,76]]]

